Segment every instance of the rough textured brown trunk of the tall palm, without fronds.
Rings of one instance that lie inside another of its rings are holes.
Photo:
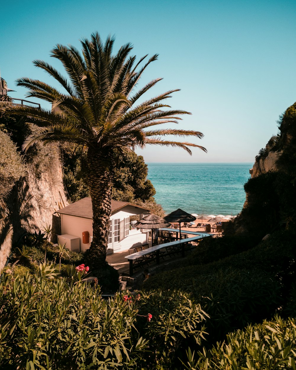
[[[106,263],[112,192],[112,158],[88,149],[88,188],[92,201],[92,242],[87,258],[90,269]]]

